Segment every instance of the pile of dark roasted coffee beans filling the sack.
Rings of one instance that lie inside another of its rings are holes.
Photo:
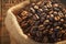
[[[23,33],[35,42],[55,43],[66,40],[66,10],[56,1],[33,2],[16,19]]]

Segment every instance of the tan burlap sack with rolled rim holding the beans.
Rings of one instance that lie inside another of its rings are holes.
[[[25,6],[28,4],[30,4],[30,1],[24,1],[8,10],[4,24],[7,26],[7,30],[10,33],[11,44],[42,44],[42,43],[34,42],[33,40],[29,38],[25,34],[23,34],[22,29],[20,28],[16,21],[16,18],[14,15],[22,8],[25,8]],[[43,43],[43,44],[46,44],[46,43]],[[66,44],[66,41],[58,42],[55,44]]]

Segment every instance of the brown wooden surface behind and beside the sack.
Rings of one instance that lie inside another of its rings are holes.
[[[24,0],[0,0],[0,44],[10,44],[9,32],[4,26],[4,18],[7,15],[8,9],[22,1]],[[65,0],[64,2],[66,4]]]

